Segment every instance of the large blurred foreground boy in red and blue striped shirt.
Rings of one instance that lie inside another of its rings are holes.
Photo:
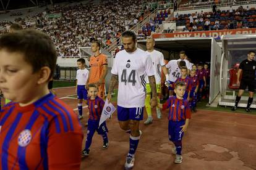
[[[48,89],[56,60],[45,33],[1,36],[0,89],[12,102],[0,112],[0,169],[80,169],[82,126]]]

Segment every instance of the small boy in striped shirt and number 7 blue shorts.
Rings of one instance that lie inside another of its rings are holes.
[[[174,144],[173,154],[176,154],[174,163],[182,163],[182,137],[189,126],[191,111],[189,102],[186,98],[183,98],[186,92],[186,84],[182,81],[177,81],[174,87],[176,96],[170,97],[164,104],[158,103],[158,107],[163,108],[163,110],[169,108],[168,134],[169,140]]]

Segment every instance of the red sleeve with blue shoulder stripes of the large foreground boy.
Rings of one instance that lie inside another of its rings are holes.
[[[82,126],[74,111],[66,103],[51,100],[51,104],[56,108],[54,112],[56,116],[49,123],[47,147],[49,169],[80,169]],[[59,126],[64,126],[59,133],[56,133],[55,120],[58,120]]]

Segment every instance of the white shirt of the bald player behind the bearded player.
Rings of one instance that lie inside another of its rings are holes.
[[[148,51],[146,51],[146,52],[148,52]],[[161,83],[161,71],[162,71],[161,67],[163,67],[165,65],[163,53],[153,50],[152,52],[148,52],[148,54],[150,54],[150,58],[153,63],[156,84],[160,84]],[[146,76],[145,79],[146,79],[146,82],[149,83],[148,76]]]

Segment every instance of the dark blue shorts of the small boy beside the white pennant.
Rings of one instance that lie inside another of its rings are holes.
[[[105,132],[108,132],[108,127],[106,127],[106,121],[101,123],[99,127],[100,120],[92,120],[88,119],[88,128],[87,131],[89,132],[95,132],[97,131],[98,134],[105,134]]]

